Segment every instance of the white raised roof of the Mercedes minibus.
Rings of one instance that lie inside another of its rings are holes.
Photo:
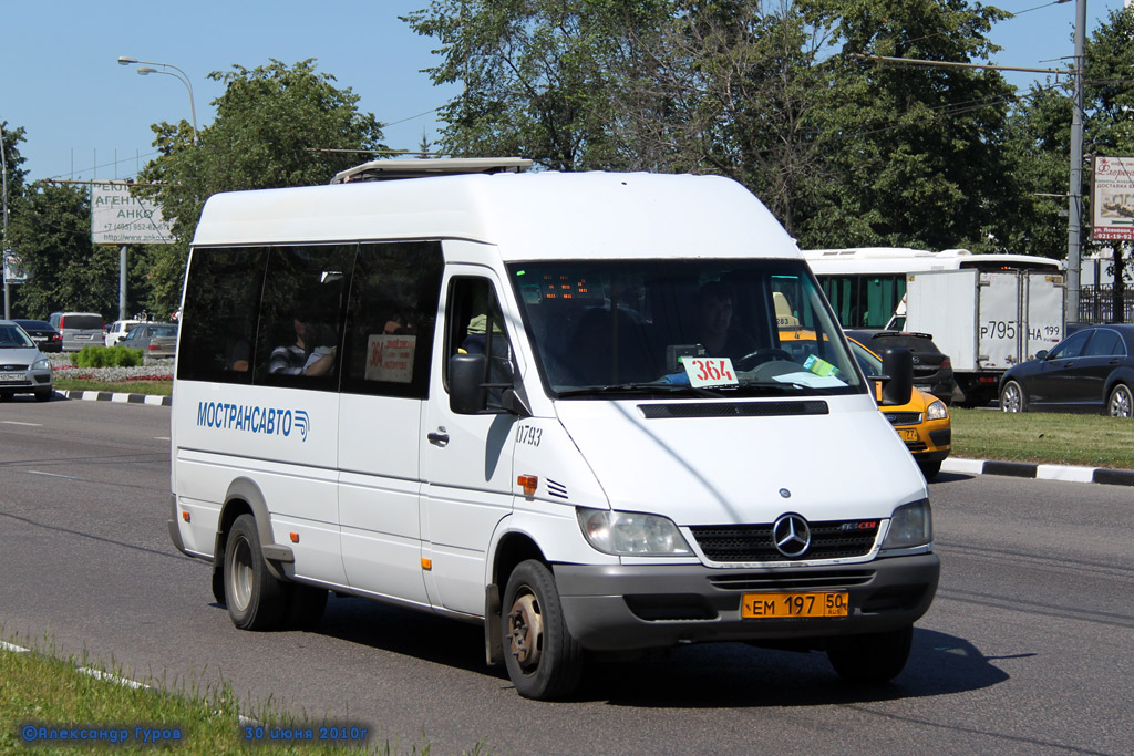
[[[743,186],[718,176],[498,172],[214,195],[194,246],[467,239],[506,261],[801,257]]]

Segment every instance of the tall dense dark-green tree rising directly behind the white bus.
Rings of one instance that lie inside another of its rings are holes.
[[[804,246],[982,249],[1005,196],[1013,90],[995,71],[875,62],[978,62],[1005,14],[967,0],[813,0],[839,48],[822,108],[833,180]]]

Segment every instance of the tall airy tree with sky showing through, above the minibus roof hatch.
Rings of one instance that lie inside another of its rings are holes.
[[[451,154],[523,155],[553,170],[620,163],[618,75],[631,32],[669,16],[668,0],[433,0],[403,17],[440,41],[435,84],[464,85],[441,111]]]

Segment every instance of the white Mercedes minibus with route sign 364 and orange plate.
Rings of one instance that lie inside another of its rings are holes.
[[[202,212],[170,535],[236,627],[312,629],[329,593],[477,622],[538,699],[703,642],[898,674],[939,575],[875,399],[908,354],[879,394],[729,179],[423,162]]]

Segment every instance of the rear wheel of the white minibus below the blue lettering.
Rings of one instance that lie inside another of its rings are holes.
[[[232,625],[242,630],[281,628],[290,587],[269,571],[255,518],[237,517],[225,544],[225,600]]]

